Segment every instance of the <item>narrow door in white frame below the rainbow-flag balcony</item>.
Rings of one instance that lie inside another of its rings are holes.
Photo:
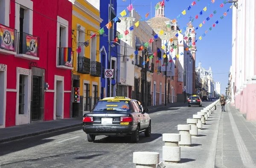
[[[63,81],[56,81],[56,119],[63,118],[63,90]]]

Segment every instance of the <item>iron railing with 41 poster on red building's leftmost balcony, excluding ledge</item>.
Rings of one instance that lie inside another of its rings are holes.
[[[0,24],[3,29],[3,42],[0,43],[0,49],[16,52],[17,30]]]

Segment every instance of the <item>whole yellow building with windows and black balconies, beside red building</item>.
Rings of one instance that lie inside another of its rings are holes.
[[[90,1],[90,3],[88,2]],[[72,44],[74,49],[73,87],[80,87],[80,99],[73,103],[72,116],[82,116],[92,109],[100,97],[102,74],[99,36],[99,0],[70,0],[72,11]],[[80,51],[79,51],[80,50]],[[72,98],[73,100],[73,98]]]

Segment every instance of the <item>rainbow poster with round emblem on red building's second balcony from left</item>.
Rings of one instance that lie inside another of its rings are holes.
[[[38,45],[38,38],[26,35],[26,46],[27,52],[26,55],[32,55],[37,57],[37,45]]]

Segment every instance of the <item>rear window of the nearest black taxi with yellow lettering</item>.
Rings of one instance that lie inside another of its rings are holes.
[[[131,111],[131,102],[127,100],[102,100],[93,108],[93,111]]]

